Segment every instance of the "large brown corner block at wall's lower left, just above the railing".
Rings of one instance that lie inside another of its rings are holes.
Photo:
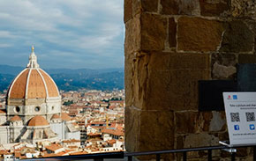
[[[173,112],[125,107],[125,149],[129,152],[173,149],[174,129]]]

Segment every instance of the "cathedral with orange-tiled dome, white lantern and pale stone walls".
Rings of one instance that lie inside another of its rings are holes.
[[[79,140],[79,129],[61,113],[61,105],[58,88],[41,70],[33,47],[26,69],[9,86],[6,112],[0,111],[0,143]]]

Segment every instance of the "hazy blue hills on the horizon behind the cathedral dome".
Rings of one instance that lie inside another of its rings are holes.
[[[22,67],[0,65],[0,91],[7,89]],[[54,69],[46,70],[55,80],[59,90],[72,91],[80,88],[95,90],[124,89],[124,69]]]

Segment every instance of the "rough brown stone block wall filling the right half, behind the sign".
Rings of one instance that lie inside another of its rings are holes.
[[[237,63],[256,62],[255,0],[124,0],[124,23],[126,150],[226,140],[225,113],[198,111],[198,81],[234,79]]]

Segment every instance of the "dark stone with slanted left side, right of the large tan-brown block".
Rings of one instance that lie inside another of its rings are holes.
[[[254,35],[243,21],[231,21],[222,38],[220,51],[252,52]]]

